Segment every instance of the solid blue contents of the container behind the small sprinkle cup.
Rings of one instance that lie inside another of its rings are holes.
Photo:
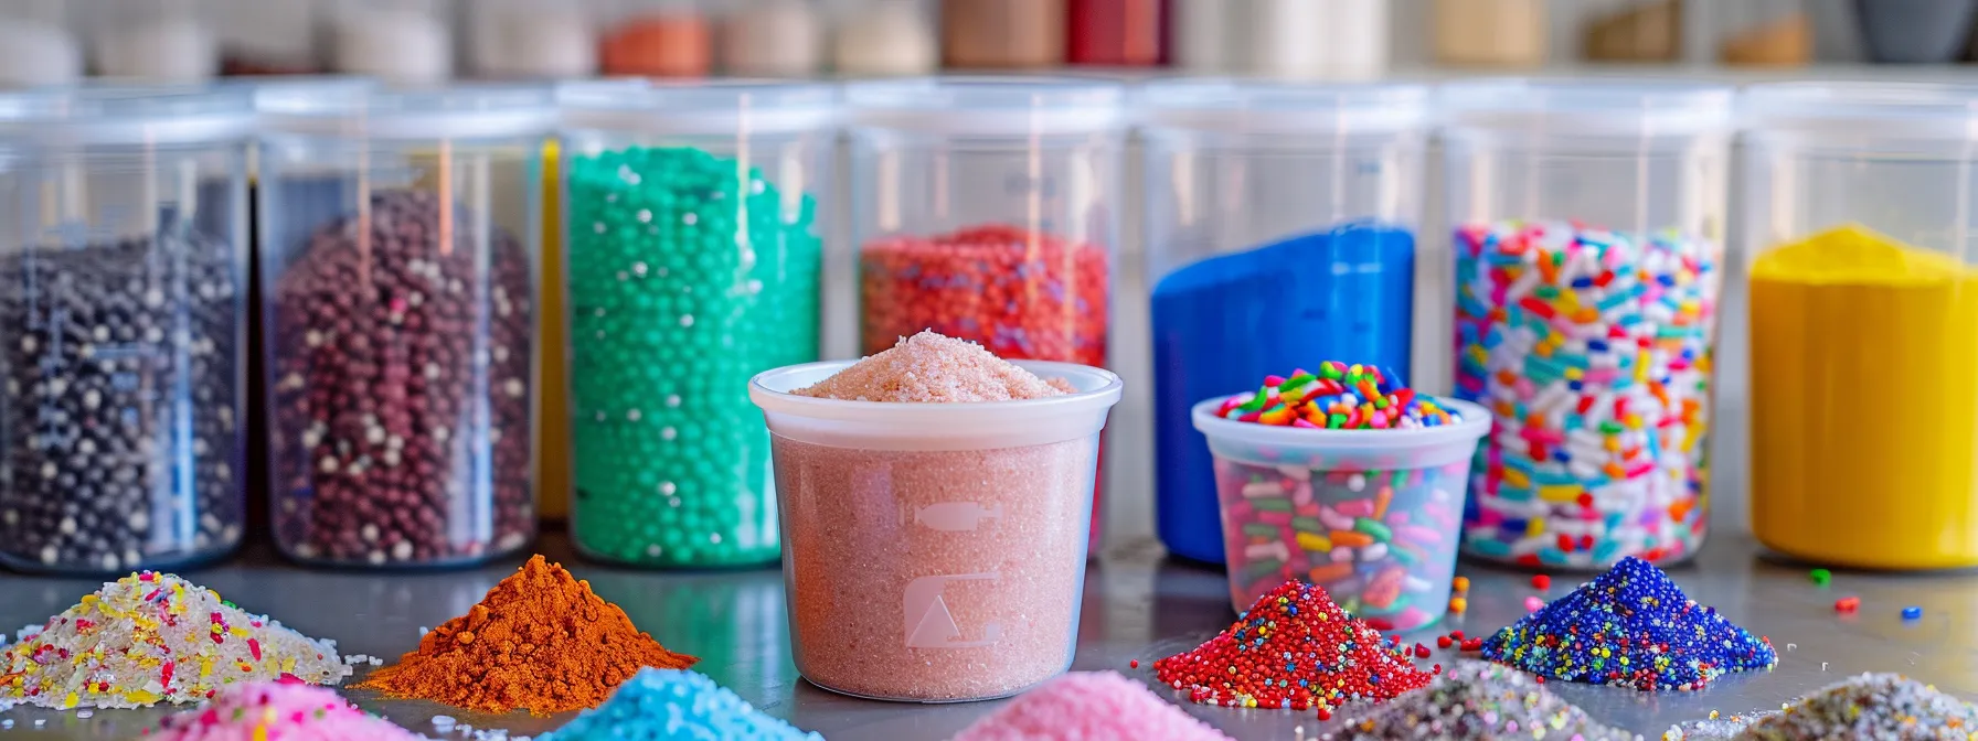
[[[1203,259],[1153,288],[1155,526],[1169,553],[1222,563],[1222,514],[1197,401],[1321,360],[1408,370],[1414,235],[1345,223]]]

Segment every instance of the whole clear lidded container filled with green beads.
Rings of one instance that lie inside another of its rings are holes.
[[[564,89],[570,421],[584,553],[781,553],[748,379],[819,356],[833,85]]]

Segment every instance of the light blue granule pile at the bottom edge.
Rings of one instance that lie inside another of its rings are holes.
[[[752,707],[704,674],[643,668],[597,709],[540,741],[823,741]]]

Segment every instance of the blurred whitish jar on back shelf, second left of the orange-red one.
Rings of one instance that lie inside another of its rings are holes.
[[[330,0],[330,71],[394,85],[453,77],[451,0]]]

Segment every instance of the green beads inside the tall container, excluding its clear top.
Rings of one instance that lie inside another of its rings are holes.
[[[817,204],[694,148],[566,168],[572,530],[641,565],[781,555],[764,370],[817,360]]]

